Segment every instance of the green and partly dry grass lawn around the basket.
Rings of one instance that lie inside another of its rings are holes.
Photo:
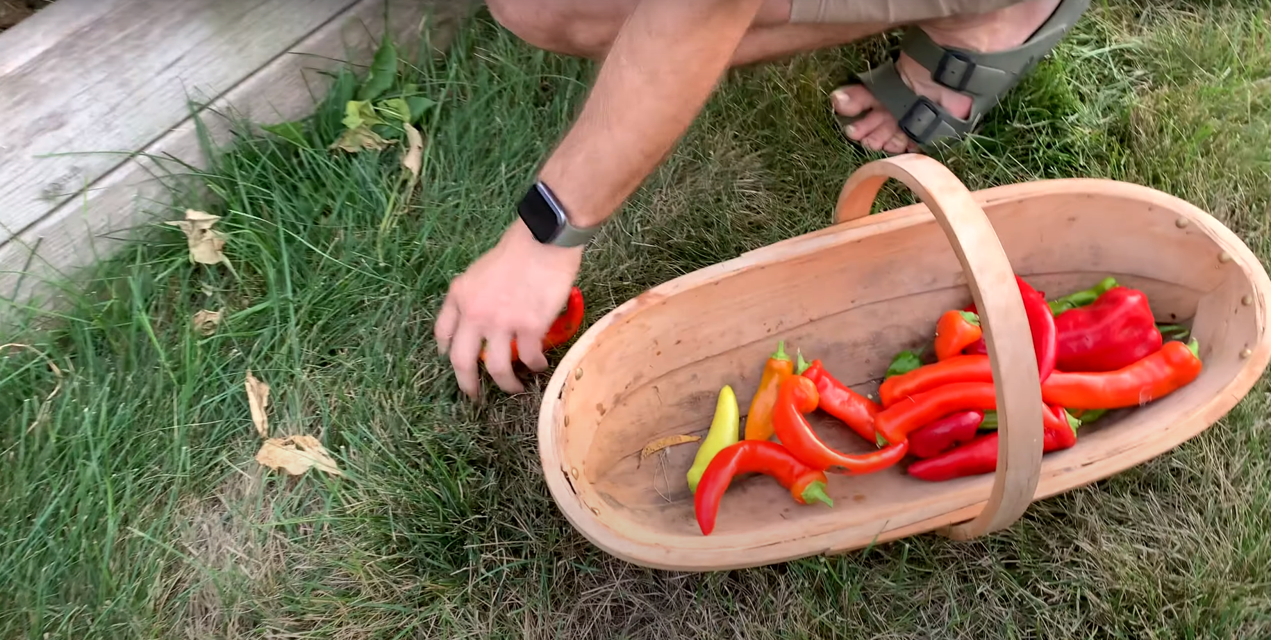
[[[824,226],[873,158],[838,137],[825,94],[883,42],[731,74],[585,260],[588,321]],[[1162,188],[1266,261],[1268,45],[1266,1],[1096,3],[981,136],[938,157],[972,188],[1066,176]],[[479,14],[446,57],[399,79],[440,102],[413,193],[395,151],[322,149],[339,131],[337,88],[309,130],[318,148],[245,136],[196,176],[216,197],[161,211],[224,215],[233,271],[191,265],[179,232],[156,226],[95,270],[60,328],[22,338],[38,352],[9,350],[0,636],[1271,635],[1265,382],[1177,450],[976,542],[919,536],[709,575],[587,543],[543,485],[545,377],[464,402],[431,328],[594,71]],[[909,201],[888,188],[881,206]],[[202,308],[226,309],[211,337],[189,328]],[[261,471],[247,369],[273,387],[275,433],[318,435],[344,478]]]

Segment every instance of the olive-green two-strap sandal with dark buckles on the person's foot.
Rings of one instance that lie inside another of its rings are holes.
[[[932,80],[971,97],[971,115],[956,118],[927,97],[914,93],[896,71],[895,57],[877,69],[857,74],[849,84],[864,84],[869,93],[896,117],[900,130],[921,148],[941,139],[961,139],[974,131],[1007,92],[1071,31],[1089,0],[1061,0],[1055,13],[1023,45],[994,52],[976,52],[937,45],[918,27],[909,27],[901,50],[932,71]],[[830,107],[840,131],[864,117],[843,116]],[[846,134],[844,132],[844,136]],[[857,140],[848,139],[859,144]]]

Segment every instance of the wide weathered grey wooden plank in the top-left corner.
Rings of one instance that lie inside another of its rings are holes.
[[[355,1],[60,0],[5,32],[0,246]]]

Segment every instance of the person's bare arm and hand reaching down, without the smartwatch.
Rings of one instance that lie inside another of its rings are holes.
[[[623,24],[582,112],[539,172],[574,226],[602,223],[657,167],[709,98],[763,0],[642,0]],[[475,397],[482,341],[506,392],[522,391],[510,342],[547,368],[541,336],[564,305],[581,247],[540,244],[515,220],[450,286],[436,323],[459,387]]]

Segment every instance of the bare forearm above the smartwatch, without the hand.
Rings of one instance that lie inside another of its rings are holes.
[[[604,221],[666,157],[728,69],[763,0],[643,0],[540,172],[576,225]]]

